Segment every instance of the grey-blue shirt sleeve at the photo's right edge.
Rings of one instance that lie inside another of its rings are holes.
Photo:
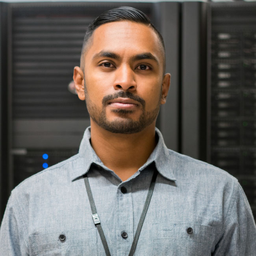
[[[224,202],[225,204],[225,202]],[[213,256],[255,256],[256,226],[247,197],[235,182],[232,200],[224,219],[223,235]]]

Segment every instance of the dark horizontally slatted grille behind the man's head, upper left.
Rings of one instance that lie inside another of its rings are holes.
[[[13,117],[89,117],[85,103],[70,93],[73,68],[80,64],[91,17],[13,17]]]

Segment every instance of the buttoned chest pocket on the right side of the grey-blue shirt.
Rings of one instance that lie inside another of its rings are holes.
[[[210,256],[215,236],[213,226],[173,223],[153,225],[154,256]]]

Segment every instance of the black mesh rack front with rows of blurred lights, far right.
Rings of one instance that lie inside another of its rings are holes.
[[[211,5],[207,160],[235,176],[256,217],[256,3]]]

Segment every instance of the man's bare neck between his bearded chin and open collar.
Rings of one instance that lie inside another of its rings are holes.
[[[91,145],[100,160],[121,180],[137,172],[156,146],[155,123],[135,134],[114,134],[91,121]]]

